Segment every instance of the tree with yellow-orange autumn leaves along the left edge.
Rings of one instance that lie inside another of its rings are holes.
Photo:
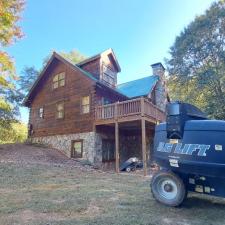
[[[14,85],[17,76],[12,58],[3,49],[23,35],[17,25],[23,6],[23,0],[0,1],[0,130],[2,127],[9,127],[10,122],[18,115]]]

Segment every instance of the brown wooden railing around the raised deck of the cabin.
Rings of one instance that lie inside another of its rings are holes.
[[[95,111],[96,120],[118,119],[135,115],[151,117],[155,121],[165,120],[165,113],[145,98],[97,106]]]

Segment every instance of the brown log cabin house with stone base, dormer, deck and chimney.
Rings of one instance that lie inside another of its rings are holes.
[[[117,84],[121,71],[112,49],[74,64],[54,52],[24,105],[30,108],[29,139],[68,157],[114,165],[143,159],[146,173],[156,123],[165,119],[165,69]]]

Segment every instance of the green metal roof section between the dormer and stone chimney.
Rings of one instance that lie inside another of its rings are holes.
[[[158,76],[152,75],[138,80],[133,80],[117,85],[117,91],[129,98],[146,96],[159,80]]]

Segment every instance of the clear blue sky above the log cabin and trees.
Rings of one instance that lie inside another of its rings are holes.
[[[20,25],[25,37],[8,48],[17,73],[41,68],[52,50],[92,56],[113,48],[119,83],[151,75],[175,38],[212,0],[28,0]],[[27,111],[21,110],[22,121]]]

